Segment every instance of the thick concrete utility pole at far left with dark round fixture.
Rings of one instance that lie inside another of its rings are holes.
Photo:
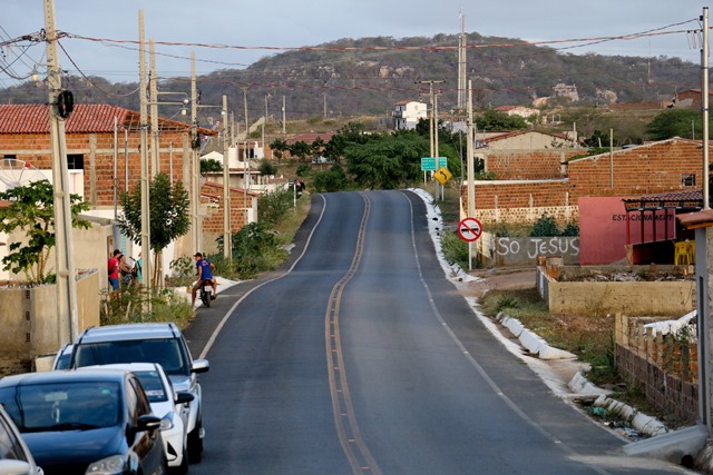
[[[65,120],[60,117],[59,100],[74,106],[71,96],[62,92],[61,69],[57,56],[57,29],[55,1],[45,0],[45,39],[47,41],[47,69],[49,89],[49,133],[52,147],[52,187],[55,191],[55,256],[57,275],[57,335],[59,345],[74,342],[78,334],[77,281],[75,280],[75,253],[71,239],[71,204],[69,199],[69,171]],[[72,103],[68,103],[72,102]],[[69,110],[70,111],[70,110]]]

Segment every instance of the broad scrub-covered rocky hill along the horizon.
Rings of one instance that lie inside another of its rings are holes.
[[[197,78],[203,105],[221,105],[244,115],[247,92],[250,118],[265,113],[287,120],[311,117],[384,116],[394,102],[419,100],[427,92],[418,80],[445,80],[439,109],[456,106],[458,37],[391,37],[341,39],[312,49],[287,51],[261,59],[245,69],[223,69]],[[476,108],[531,105],[594,106],[609,102],[670,100],[676,91],[699,87],[699,66],[678,58],[576,56],[520,40],[468,34],[468,78]],[[65,81],[77,102],[108,102],[138,109],[137,83],[110,83],[102,78],[72,77]],[[189,92],[189,78],[162,78],[162,91]],[[42,102],[47,91],[27,82],[0,90],[0,102]],[[426,100],[426,99],[421,99]],[[165,107],[162,115],[177,113]],[[218,110],[201,111],[202,122]],[[237,120],[237,119],[236,119]],[[241,119],[244,121],[244,118]]]

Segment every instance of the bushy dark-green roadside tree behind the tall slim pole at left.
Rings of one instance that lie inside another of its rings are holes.
[[[156,175],[149,184],[148,194],[150,246],[156,253],[154,269],[157,269],[162,250],[191,229],[189,200],[183,182],[172,184],[166,174]],[[121,194],[120,201],[124,209],[118,217],[119,229],[133,243],[141,244],[141,185],[137,182],[130,192]],[[155,281],[156,275],[152,278]]]

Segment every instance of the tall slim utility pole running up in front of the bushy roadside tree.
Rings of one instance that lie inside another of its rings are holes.
[[[138,11],[138,75],[139,75],[139,129],[140,129],[140,160],[141,160],[141,264],[144,265],[144,288],[148,295],[152,295],[153,273],[152,273],[152,251],[150,251],[150,206],[149,206],[149,169],[148,169],[148,123],[147,123],[147,99],[146,99],[146,51],[144,40],[144,10]],[[145,309],[152,311],[152,299],[146,299]]]

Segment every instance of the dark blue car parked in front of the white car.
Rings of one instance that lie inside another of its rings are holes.
[[[2,404],[45,475],[163,475],[160,418],[121,369],[28,373],[0,379]]]

